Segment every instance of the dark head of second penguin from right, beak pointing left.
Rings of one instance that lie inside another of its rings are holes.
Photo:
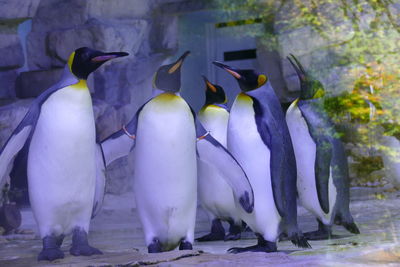
[[[226,70],[233,77],[235,77],[235,79],[239,83],[240,89],[243,92],[257,89],[257,88],[263,86],[268,80],[266,75],[259,74],[255,70],[237,69],[237,68],[233,68],[231,66],[222,64],[221,62],[218,62],[218,61],[214,61],[213,64]]]

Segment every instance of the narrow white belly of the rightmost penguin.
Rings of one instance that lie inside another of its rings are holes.
[[[325,213],[319,204],[315,180],[316,144],[297,105],[292,105],[288,109],[286,122],[296,157],[297,191],[300,202],[324,224],[331,224],[333,207],[336,203],[336,187],[333,184],[332,168],[330,167],[328,183],[329,213]]]

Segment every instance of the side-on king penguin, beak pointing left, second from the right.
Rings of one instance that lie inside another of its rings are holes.
[[[254,190],[253,213],[239,211],[256,233],[258,244],[229,251],[277,251],[276,242],[283,232],[293,244],[309,247],[297,227],[296,162],[279,100],[265,75],[213,63],[235,77],[242,90],[229,116],[228,150]]]

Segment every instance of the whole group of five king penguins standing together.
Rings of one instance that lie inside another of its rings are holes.
[[[343,144],[318,105],[322,84],[294,56],[288,58],[301,92],[285,115],[266,75],[214,61],[241,92],[229,110],[222,86],[203,76],[205,104],[196,114],[180,96],[189,54],[159,67],[152,98],[99,143],[86,80],[127,53],[75,50],[61,80],[34,100],[0,150],[0,182],[28,146],[29,197],[43,241],[38,260],[63,258],[60,247],[69,234],[71,255],[102,253],[88,243],[90,219],[102,205],[106,167],[130,153],[149,253],[193,249],[198,199],[211,232],[197,241],[237,240],[245,225],[256,235],[256,245],[231,253],[275,252],[284,237],[310,248],[307,240],[333,236],[333,223],[359,233],[349,211]],[[299,229],[298,199],[317,218],[317,231]],[[227,232],[222,221],[229,224]]]

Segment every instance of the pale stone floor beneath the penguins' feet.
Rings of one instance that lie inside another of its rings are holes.
[[[36,224],[29,209],[23,210],[20,234],[0,237],[0,266],[365,266],[400,265],[400,192],[382,188],[353,188],[351,211],[361,234],[351,235],[335,226],[339,238],[310,241],[312,249],[298,249],[290,242],[278,243],[277,253],[228,254],[234,246],[250,246],[255,236],[246,232],[239,241],[216,241],[194,244],[193,251],[147,254],[141,225],[134,208],[133,196],[107,195],[101,213],[92,221],[90,243],[104,255],[73,257],[67,237],[62,246],[65,259],[52,263],[37,262],[41,240],[35,234]],[[315,230],[315,219],[299,208],[303,231]],[[206,234],[209,222],[199,209],[196,237]]]

